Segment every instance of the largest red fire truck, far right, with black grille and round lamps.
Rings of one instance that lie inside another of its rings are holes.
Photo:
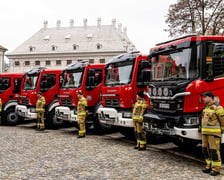
[[[200,94],[211,91],[224,105],[224,37],[181,37],[157,44],[149,58],[150,109],[144,128],[149,135],[173,137],[177,145],[197,144],[205,105]]]

